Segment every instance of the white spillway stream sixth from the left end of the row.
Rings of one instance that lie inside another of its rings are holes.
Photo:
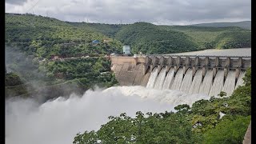
[[[194,74],[193,82],[190,86],[190,90],[188,94],[198,94],[201,85],[202,85],[202,69],[199,69]]]

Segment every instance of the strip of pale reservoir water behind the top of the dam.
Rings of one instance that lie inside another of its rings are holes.
[[[209,49],[209,50],[199,50],[185,53],[173,53],[173,54],[162,54],[162,55],[205,55],[205,56],[237,56],[237,57],[251,57],[251,48],[238,48],[238,49]]]

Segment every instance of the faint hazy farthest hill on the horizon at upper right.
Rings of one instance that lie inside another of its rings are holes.
[[[212,23],[199,23],[191,26],[208,26],[208,27],[228,27],[228,26],[238,26],[243,29],[251,30],[251,21],[242,22],[212,22]]]

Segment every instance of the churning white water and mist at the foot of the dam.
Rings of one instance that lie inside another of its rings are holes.
[[[98,130],[110,115],[134,117],[139,110],[159,113],[209,98],[178,90],[117,86],[87,90],[82,97],[71,94],[42,105],[32,99],[6,100],[6,144],[70,144],[77,133]]]

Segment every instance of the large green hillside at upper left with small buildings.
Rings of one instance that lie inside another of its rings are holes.
[[[95,39],[101,43],[91,45]],[[110,42],[103,43],[104,39],[110,39]],[[120,53],[122,50],[121,42],[95,30],[33,14],[6,14],[6,45],[18,47],[38,58],[50,58],[54,54]]]

